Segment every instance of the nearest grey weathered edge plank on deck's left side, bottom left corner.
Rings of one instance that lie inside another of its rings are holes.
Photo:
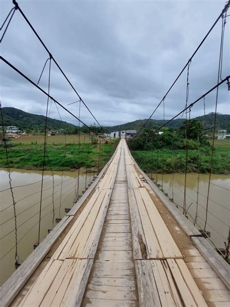
[[[0,306],[9,306],[73,217],[64,217],[0,288]]]

